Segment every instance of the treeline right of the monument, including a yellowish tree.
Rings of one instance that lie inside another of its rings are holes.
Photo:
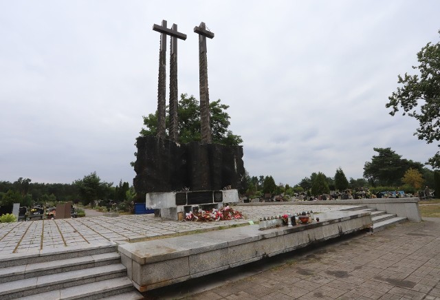
[[[331,191],[360,189],[368,187],[372,193],[380,191],[405,191],[416,194],[429,186],[440,193],[440,171],[432,171],[421,162],[407,160],[395,153],[391,148],[373,148],[377,155],[364,164],[364,178],[350,178],[344,174],[341,167],[336,169],[333,176],[318,171],[311,173],[293,186],[275,184],[271,175],[250,176],[246,174],[248,197],[263,197],[265,194],[292,196],[296,193],[306,193],[307,196],[328,194]]]

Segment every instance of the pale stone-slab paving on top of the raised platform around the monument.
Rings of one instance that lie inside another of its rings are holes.
[[[248,224],[263,216],[282,215],[300,211],[336,211],[347,206],[236,206],[246,219],[220,222],[178,222],[153,215],[122,215],[120,217],[82,217],[49,219],[0,224],[0,255],[35,252],[48,248],[88,246],[105,242],[124,243],[148,237],[177,233],[209,231],[221,226]],[[294,209],[294,211],[292,211]]]

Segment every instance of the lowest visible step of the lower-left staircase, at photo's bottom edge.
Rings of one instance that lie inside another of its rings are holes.
[[[3,298],[2,298],[3,299]],[[52,299],[144,299],[140,292],[133,288],[133,283],[127,277],[118,277],[87,283],[70,288],[50,290],[40,294],[22,297],[23,300],[52,300]]]

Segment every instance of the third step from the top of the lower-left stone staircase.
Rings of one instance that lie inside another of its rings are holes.
[[[126,276],[126,268],[122,264],[112,264],[9,281],[0,283],[0,299],[26,297],[87,283],[96,284],[96,281],[124,276]],[[79,289],[82,290],[82,288]]]

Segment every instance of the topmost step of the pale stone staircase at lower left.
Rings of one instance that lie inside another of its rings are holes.
[[[118,245],[113,242],[109,242],[108,244],[94,244],[87,247],[69,246],[65,249],[44,249],[37,253],[12,253],[0,255],[0,268],[43,263],[110,252],[118,252]]]

